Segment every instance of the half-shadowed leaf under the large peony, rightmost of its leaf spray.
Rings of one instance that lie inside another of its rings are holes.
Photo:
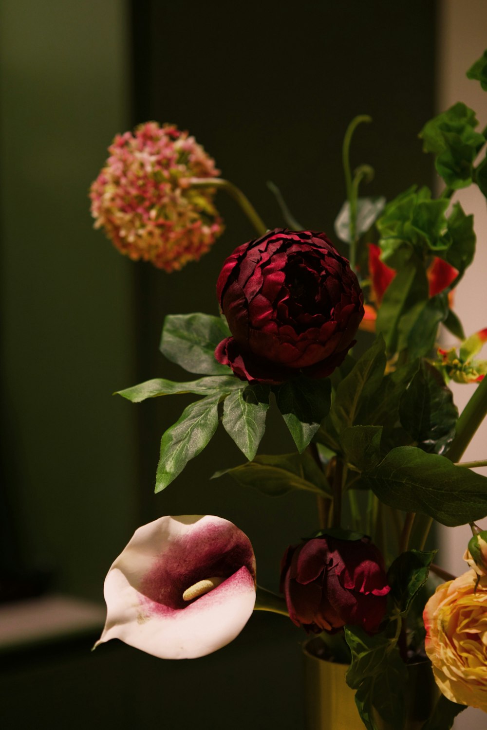
[[[277,407],[302,453],[330,410],[331,383],[328,378],[301,375],[278,386],[275,393]]]

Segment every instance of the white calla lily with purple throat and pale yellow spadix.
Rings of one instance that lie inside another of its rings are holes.
[[[196,658],[231,642],[256,602],[248,537],[212,515],[161,517],[139,527],[104,583],[110,639],[165,659]]]

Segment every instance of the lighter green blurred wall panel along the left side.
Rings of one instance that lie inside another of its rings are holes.
[[[125,3],[1,4],[4,472],[23,564],[101,599],[134,512],[129,261],[88,212],[128,126]],[[130,527],[129,527],[130,524]]]

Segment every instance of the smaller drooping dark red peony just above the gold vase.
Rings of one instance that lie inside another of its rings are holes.
[[[334,633],[361,626],[373,634],[386,612],[383,557],[368,537],[329,535],[291,545],[281,563],[281,588],[291,620],[306,631]]]

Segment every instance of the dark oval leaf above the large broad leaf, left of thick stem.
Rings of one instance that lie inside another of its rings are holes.
[[[426,361],[421,362],[402,395],[399,418],[416,445],[429,453],[445,453],[455,436],[459,411],[453,394],[437,369]]]

